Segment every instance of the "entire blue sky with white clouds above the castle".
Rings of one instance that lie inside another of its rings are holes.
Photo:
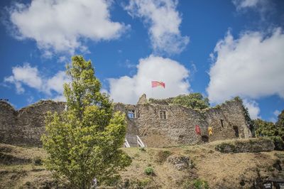
[[[16,109],[64,100],[72,55],[114,102],[200,92],[241,97],[252,119],[284,109],[281,0],[1,0],[0,20],[0,98]]]

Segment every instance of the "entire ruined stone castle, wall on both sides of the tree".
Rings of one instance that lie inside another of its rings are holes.
[[[40,136],[45,132],[45,113],[60,113],[64,109],[64,102],[51,100],[19,110],[8,102],[0,101],[0,142],[40,146]],[[148,100],[146,95],[142,95],[136,105],[114,103],[114,110],[126,113],[126,140],[130,146],[137,146],[137,136],[151,147],[201,144],[251,136],[242,102],[238,99],[197,111],[170,104],[167,99]],[[200,133],[196,132],[197,127]],[[209,134],[209,129],[212,134]]]

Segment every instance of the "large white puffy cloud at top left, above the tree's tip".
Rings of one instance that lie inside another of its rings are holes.
[[[50,50],[74,53],[82,47],[87,51],[82,38],[110,40],[129,28],[111,21],[109,6],[108,0],[32,0],[12,6],[9,14],[18,39],[31,38],[48,54]]]

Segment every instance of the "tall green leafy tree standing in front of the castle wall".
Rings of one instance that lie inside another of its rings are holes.
[[[64,85],[67,109],[62,114],[49,112],[45,118],[45,166],[56,178],[69,180],[72,188],[90,188],[93,178],[103,183],[130,165],[131,159],[120,149],[126,121],[100,92],[90,60],[72,57],[67,75],[71,79]]]

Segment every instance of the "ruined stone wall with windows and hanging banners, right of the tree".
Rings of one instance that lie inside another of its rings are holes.
[[[136,106],[119,104],[119,108],[115,109],[125,112],[126,115],[129,110],[135,110],[136,114],[139,114],[139,117],[134,119],[127,118],[128,131],[135,131],[135,135],[140,136],[147,146],[199,144],[204,142],[204,139],[216,141],[249,137],[244,110],[238,100],[206,109],[204,112],[160,102]],[[166,112],[166,119],[160,119],[160,111]],[[200,135],[195,133],[196,125],[200,126]],[[209,126],[213,130],[212,136],[208,133]]]

